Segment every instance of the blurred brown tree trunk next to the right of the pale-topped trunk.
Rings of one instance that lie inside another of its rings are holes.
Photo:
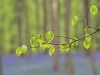
[[[70,29],[70,9],[71,9],[71,0],[65,0],[65,7],[66,7],[66,13],[65,13],[65,32],[66,36],[69,37],[69,29]],[[69,39],[66,39],[66,42],[69,42]],[[72,68],[72,57],[70,50],[66,53],[66,75],[73,75],[73,68]]]

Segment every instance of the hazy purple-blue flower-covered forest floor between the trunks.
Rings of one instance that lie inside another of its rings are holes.
[[[100,52],[95,52],[95,66],[100,75]],[[60,72],[65,75],[65,54],[60,55]],[[92,75],[91,61],[83,53],[72,54],[74,75]],[[16,55],[2,56],[3,75],[57,75],[53,71],[52,56],[32,55],[30,58]]]

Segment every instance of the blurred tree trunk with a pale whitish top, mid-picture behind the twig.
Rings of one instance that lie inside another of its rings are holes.
[[[52,31],[54,32],[55,35],[57,35],[58,34],[57,0],[51,0],[51,25],[52,25],[52,27],[51,27]],[[57,38],[55,38],[54,41],[55,40],[57,40]],[[56,51],[55,51],[55,53],[53,55],[53,61],[54,61],[54,70],[57,71],[57,75],[60,75],[60,69],[59,69],[59,50],[57,50],[57,49],[56,49]]]

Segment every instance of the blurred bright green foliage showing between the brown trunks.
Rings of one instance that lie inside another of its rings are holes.
[[[22,43],[26,44],[26,26],[25,26],[25,15],[23,11],[23,3],[20,3],[21,6],[21,12],[20,12],[20,18],[21,18],[21,41]],[[38,4],[36,4],[36,0],[27,0],[27,22],[29,27],[29,38],[32,34],[38,35],[44,34],[43,26],[44,26],[44,11],[43,11],[43,0],[38,0]],[[64,31],[65,28],[65,0],[59,0],[59,35],[65,35],[66,32]],[[100,3],[97,1],[91,0],[89,2],[89,6],[97,4],[99,6]],[[15,0],[0,0],[0,48],[2,50],[2,54],[9,54],[9,53],[15,53],[16,48],[18,47],[18,24],[16,23],[16,1]],[[84,16],[83,15],[83,3],[80,0],[72,0],[71,2],[71,15],[70,15],[70,37],[77,37],[80,38],[83,36],[83,19],[80,19],[73,27],[71,25],[71,20],[75,15]],[[47,30],[51,30],[51,23],[50,23],[50,2],[47,0],[46,3],[47,6]],[[37,9],[38,9],[38,20],[37,20]],[[97,25],[98,16],[92,16],[89,14],[89,24],[93,27],[100,27]],[[39,24],[39,29],[37,29],[37,24]],[[91,30],[92,32],[93,30]],[[99,44],[96,44],[96,39],[100,38],[100,35],[93,36],[92,39],[92,49],[96,50],[99,47]],[[64,41],[64,39],[60,39],[61,41]],[[72,51],[77,51],[78,48],[81,50],[82,44],[79,45],[79,47],[72,48]]]

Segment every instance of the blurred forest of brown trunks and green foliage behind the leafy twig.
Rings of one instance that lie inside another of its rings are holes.
[[[15,54],[17,47],[22,44],[29,45],[32,34],[37,36],[45,34],[47,31],[53,31],[55,35],[83,37],[86,26],[85,19],[80,17],[75,26],[71,25],[71,20],[75,15],[85,16],[93,4],[100,9],[100,0],[0,0],[0,55]],[[90,26],[100,27],[99,14],[93,16],[89,13],[88,19]],[[90,55],[94,62],[92,52],[100,51],[99,34],[96,33],[92,36],[89,50],[84,49],[83,41],[80,41],[77,47],[71,48],[67,53],[69,61],[67,64],[71,64],[70,54],[76,52]],[[69,41],[65,38],[55,38],[55,40]],[[28,50],[25,55],[47,52],[47,50],[43,51],[42,49],[37,49],[35,52]],[[54,59],[56,59],[54,63],[58,61],[58,55],[59,50],[54,53]],[[55,65],[57,67],[58,64],[55,63]],[[67,73],[72,75],[71,72]]]

